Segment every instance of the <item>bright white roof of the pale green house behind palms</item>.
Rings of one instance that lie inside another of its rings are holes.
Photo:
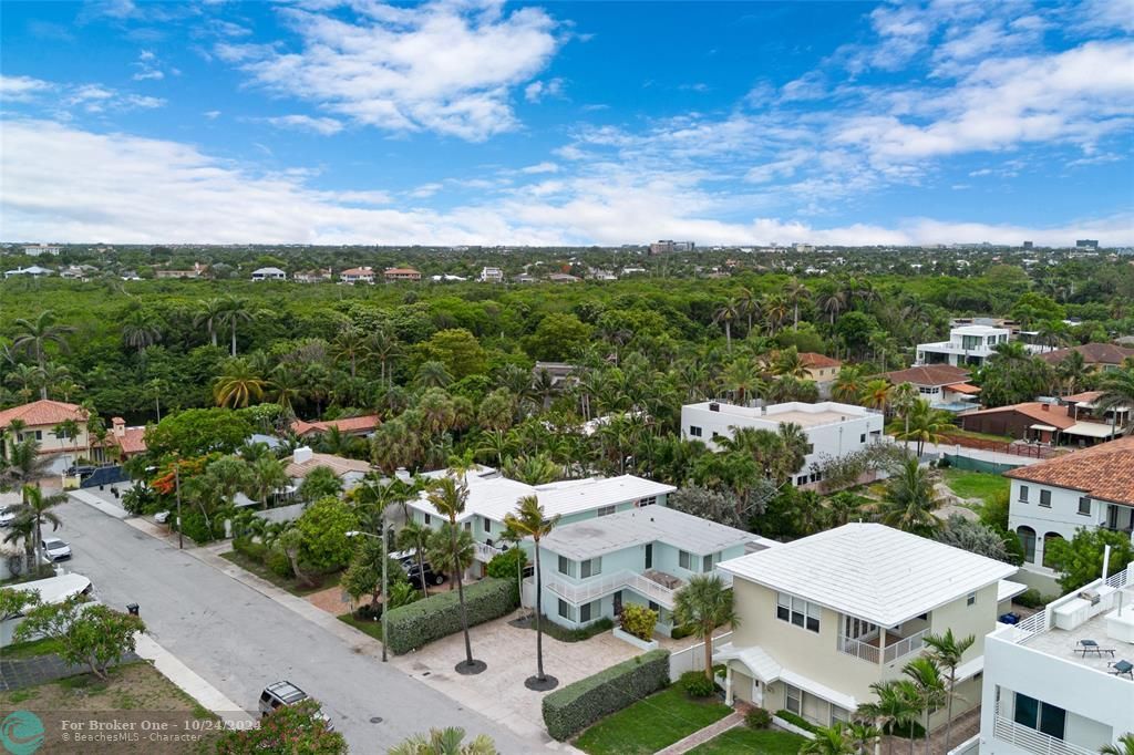
[[[465,502],[465,514],[458,519],[464,521],[472,516],[482,516],[493,521],[503,521],[506,514],[516,510],[516,502],[525,495],[535,495],[547,516],[569,516],[579,511],[590,511],[602,506],[612,506],[642,498],[652,498],[671,493],[676,487],[663,485],[634,475],[620,477],[590,477],[586,480],[565,480],[547,485],[527,485],[508,477],[468,476],[468,500]],[[414,508],[432,516],[440,516],[426,494],[411,503]]]

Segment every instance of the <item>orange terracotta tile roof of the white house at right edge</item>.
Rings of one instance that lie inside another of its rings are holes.
[[[1134,436],[1018,467],[1006,477],[1081,490],[1116,503],[1134,504]]]

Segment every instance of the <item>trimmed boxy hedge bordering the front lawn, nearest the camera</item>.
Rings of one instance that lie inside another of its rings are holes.
[[[667,686],[669,651],[650,651],[544,696],[543,723],[562,741]]]

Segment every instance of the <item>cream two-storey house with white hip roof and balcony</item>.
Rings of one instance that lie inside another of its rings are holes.
[[[973,635],[957,669],[962,701],[980,704],[983,637],[1024,586],[1016,567],[879,524],[835,529],[725,561],[741,622],[716,648],[726,695],[818,726],[849,720],[870,685],[902,676],[925,636]],[[943,722],[945,711],[931,719]]]

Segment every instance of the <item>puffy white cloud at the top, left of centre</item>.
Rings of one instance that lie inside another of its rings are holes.
[[[500,0],[396,8],[356,3],[354,23],[303,7],[280,11],[298,51],[220,44],[264,88],[383,130],[433,130],[483,141],[516,127],[509,91],[555,54],[556,22]]]

